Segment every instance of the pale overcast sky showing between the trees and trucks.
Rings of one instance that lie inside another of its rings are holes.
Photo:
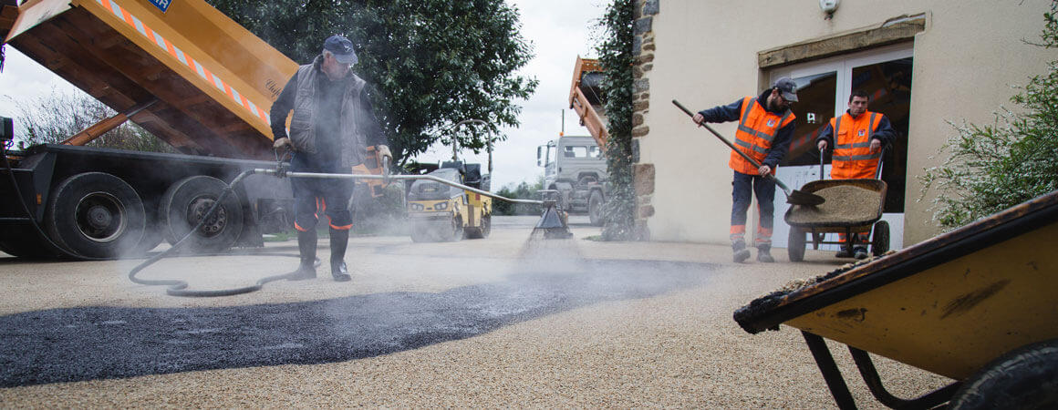
[[[518,128],[504,129],[507,141],[498,143],[493,152],[492,190],[523,181],[535,182],[543,174],[536,167],[536,147],[558,137],[565,111],[566,135],[588,135],[577,114],[568,109],[569,85],[577,56],[596,57],[592,36],[597,20],[602,17],[607,0],[507,0],[522,17],[522,36],[532,43],[533,59],[522,74],[540,80],[536,92],[526,101],[518,101],[523,111]],[[79,92],[69,82],[29,59],[14,48],[6,48],[6,61],[0,73],[0,115],[15,117],[18,132],[18,110],[35,98],[49,95],[53,89]],[[471,155],[469,162],[486,167],[487,156]],[[452,156],[452,149],[434,147],[418,157],[436,162]]]

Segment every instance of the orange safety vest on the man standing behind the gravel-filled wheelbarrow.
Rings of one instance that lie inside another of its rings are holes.
[[[834,130],[832,179],[874,179],[881,150],[871,152],[871,137],[874,136],[880,122],[881,114],[871,111],[864,112],[857,118],[853,118],[847,112],[831,118],[831,128]]]

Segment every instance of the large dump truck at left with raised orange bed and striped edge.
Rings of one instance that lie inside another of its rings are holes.
[[[59,145],[4,150],[0,250],[109,259],[175,242],[234,175],[274,168],[269,109],[298,64],[202,0],[0,0],[0,35],[118,114]],[[179,153],[83,146],[128,119]],[[12,145],[7,136],[5,147]],[[251,175],[193,248],[285,230],[284,181]]]

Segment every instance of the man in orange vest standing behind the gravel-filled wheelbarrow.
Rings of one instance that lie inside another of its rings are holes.
[[[889,118],[881,113],[868,111],[869,104],[867,92],[854,91],[849,96],[849,110],[839,117],[831,118],[831,123],[816,138],[820,155],[827,147],[834,147],[831,161],[831,178],[834,180],[876,178],[881,147],[892,144],[896,137]],[[867,258],[868,234],[853,234],[855,242],[852,253],[847,246],[841,246],[837,257]],[[838,236],[842,243],[847,240],[844,234]]]

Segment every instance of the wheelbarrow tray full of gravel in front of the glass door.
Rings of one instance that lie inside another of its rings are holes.
[[[858,188],[863,188],[869,191],[874,191],[876,195],[880,198],[878,201],[877,209],[863,209],[863,215],[865,216],[862,220],[855,221],[831,221],[829,215],[825,212],[827,204],[824,203],[820,205],[817,209],[823,209],[824,211],[819,215],[818,219],[806,218],[803,221],[797,222],[792,221],[792,216],[799,211],[805,210],[807,207],[805,205],[791,205],[786,209],[786,215],[783,219],[786,223],[792,227],[800,228],[807,232],[846,232],[852,228],[852,231],[870,230],[871,225],[881,219],[881,212],[886,205],[886,189],[887,185],[884,181],[881,180],[821,180],[813,181],[804,184],[801,187],[801,191],[813,193],[824,188],[835,187],[835,186],[855,186]],[[864,194],[870,194],[864,192]],[[803,215],[803,213],[802,213]],[[807,215],[811,217],[811,215]]]

